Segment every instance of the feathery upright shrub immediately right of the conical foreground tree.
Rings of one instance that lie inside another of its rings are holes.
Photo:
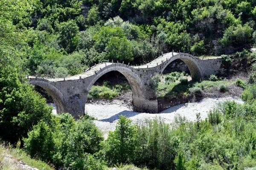
[[[147,120],[138,131],[140,152],[138,165],[146,165],[150,169],[174,169],[175,150],[170,125],[161,118]],[[178,140],[177,140],[178,142]]]

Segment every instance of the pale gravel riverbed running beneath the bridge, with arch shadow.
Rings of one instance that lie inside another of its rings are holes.
[[[140,124],[145,119],[154,119],[156,116],[162,117],[166,123],[174,121],[175,116],[185,116],[189,121],[196,120],[196,113],[201,113],[201,119],[205,119],[210,109],[215,107],[218,102],[224,102],[227,100],[235,100],[242,103],[240,98],[222,97],[222,98],[204,98],[200,102],[185,103],[175,105],[160,113],[138,113],[132,111],[131,107],[124,104],[120,100],[113,100],[109,102],[97,102],[87,103],[85,105],[85,111],[89,116],[96,118],[94,123],[100,130],[103,131],[106,137],[108,131],[115,130],[116,123],[119,119],[119,115],[125,115],[130,118],[134,123]],[[54,111],[56,113],[56,110]]]

